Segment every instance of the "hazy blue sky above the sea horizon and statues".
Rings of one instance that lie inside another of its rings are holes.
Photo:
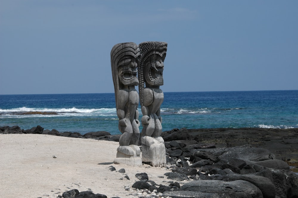
[[[164,92],[298,89],[298,1],[0,0],[0,94],[113,93],[111,48],[164,41]]]

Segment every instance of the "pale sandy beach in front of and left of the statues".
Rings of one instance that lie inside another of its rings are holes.
[[[146,172],[149,180],[170,172],[166,168],[113,164],[118,142],[40,134],[0,134],[0,197],[57,197],[70,189],[91,190],[107,197],[127,196],[125,191]],[[56,155],[57,158],[53,158]],[[117,171],[109,171],[114,166]],[[124,168],[130,180],[118,170]],[[123,180],[120,180],[123,178]]]

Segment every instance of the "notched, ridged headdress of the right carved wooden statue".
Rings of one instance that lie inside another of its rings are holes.
[[[139,44],[139,48],[141,54],[139,56],[139,66],[138,66],[138,79],[139,79],[139,97],[140,104],[143,106],[143,91],[145,88],[145,77],[144,77],[144,69],[145,64],[150,61],[148,58],[153,54],[158,54],[162,57],[162,62],[166,57],[167,53],[167,43],[166,42],[158,42],[158,41],[146,41]]]

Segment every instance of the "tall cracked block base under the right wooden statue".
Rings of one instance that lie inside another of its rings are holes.
[[[165,167],[166,149],[162,137],[141,137],[142,143],[142,162],[150,166]]]

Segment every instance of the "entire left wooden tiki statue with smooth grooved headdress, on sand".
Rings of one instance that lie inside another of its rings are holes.
[[[111,69],[114,82],[118,128],[122,133],[117,148],[115,164],[139,166],[139,94],[135,86],[139,84],[137,76],[137,57],[139,47],[136,43],[118,43],[111,50]]]

